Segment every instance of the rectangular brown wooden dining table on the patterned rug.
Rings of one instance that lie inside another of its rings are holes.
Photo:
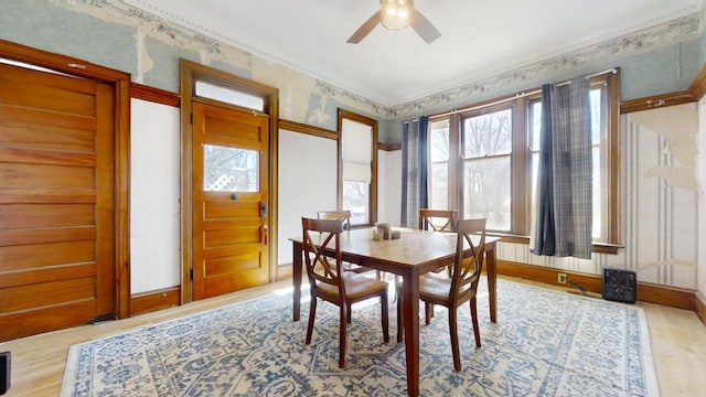
[[[374,228],[361,228],[341,234],[343,260],[367,268],[398,275],[403,278],[405,353],[407,360],[407,391],[419,395],[419,275],[450,264],[456,254],[456,234],[395,228],[397,239],[374,240]],[[313,236],[315,240],[315,235]],[[495,243],[500,238],[485,238],[485,272],[490,297],[490,321],[496,321]],[[299,321],[303,244],[302,236],[291,237],[293,320]],[[333,250],[329,254],[333,255]]]

